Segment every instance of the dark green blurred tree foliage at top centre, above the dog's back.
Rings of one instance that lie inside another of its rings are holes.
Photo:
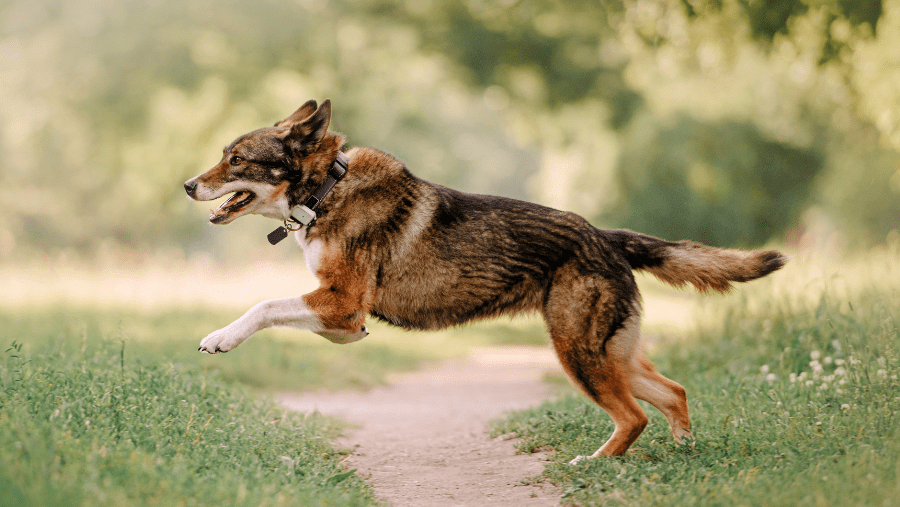
[[[641,103],[622,75],[623,11],[621,0],[370,2],[373,15],[415,29],[424,51],[456,62],[471,85],[500,86],[536,109],[599,98],[614,127]]]

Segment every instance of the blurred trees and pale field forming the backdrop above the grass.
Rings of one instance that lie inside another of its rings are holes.
[[[4,301],[299,283],[274,221],[211,226],[182,183],[310,98],[425,179],[599,227],[898,241],[900,1],[3,0]]]

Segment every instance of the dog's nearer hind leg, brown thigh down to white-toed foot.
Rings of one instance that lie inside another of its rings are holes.
[[[573,384],[615,423],[612,436],[590,457],[624,453],[647,425],[647,415],[631,385],[632,356],[639,336],[637,303],[622,305],[615,290],[602,279],[558,277],[545,301],[544,318]],[[573,463],[583,458],[579,456]]]

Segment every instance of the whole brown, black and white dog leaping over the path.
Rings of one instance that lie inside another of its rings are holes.
[[[452,190],[382,151],[344,153],[345,137],[329,131],[330,122],[329,100],[308,101],[274,127],[238,137],[215,167],[184,184],[198,201],[233,194],[212,212],[213,224],[247,214],[283,222],[320,282],[303,296],[258,303],[204,338],[201,352],[228,352],[270,326],[346,344],[368,335],[370,315],[435,330],[540,312],[572,383],[615,423],[589,458],[620,455],[634,443],[647,424],[637,400],[666,416],[677,442],[691,436],[684,388],[640,349],[632,272],[726,292],[731,282],[780,269],[783,255],[601,230],[574,213]]]

